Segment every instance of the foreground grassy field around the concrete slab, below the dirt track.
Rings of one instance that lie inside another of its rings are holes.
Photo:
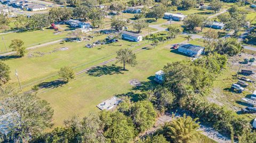
[[[139,91],[132,90],[129,84],[131,79],[150,81],[154,73],[166,63],[186,58],[170,52],[170,44],[183,40],[185,39],[179,38],[156,48],[143,49],[137,53],[138,65],[134,68],[128,66],[129,71],[120,70],[121,64],[111,63],[90,71],[90,74],[79,75],[74,81],[61,87],[40,90],[38,95],[53,107],[55,125],[62,125],[63,120],[72,115],[84,116],[90,111],[99,111],[96,105],[115,94],[131,91],[138,93]],[[138,98],[135,94],[131,96]]]

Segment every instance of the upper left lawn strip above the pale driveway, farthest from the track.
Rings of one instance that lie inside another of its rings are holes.
[[[11,51],[9,48],[11,40],[13,39],[21,39],[24,41],[25,47],[35,46],[43,43],[47,43],[50,41],[58,40],[61,38],[65,38],[67,36],[67,31],[63,31],[58,35],[54,35],[54,30],[52,29],[44,29],[44,30],[35,30],[35,31],[26,31],[26,32],[15,32],[15,33],[7,33],[1,35],[0,40],[0,53],[6,52],[3,37],[7,46],[7,51]]]

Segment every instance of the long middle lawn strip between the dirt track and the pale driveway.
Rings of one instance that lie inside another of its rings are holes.
[[[93,41],[104,39],[105,37],[103,35],[94,38]],[[143,46],[143,43],[131,43],[120,40],[114,45],[99,45],[91,49],[85,47],[86,44],[92,43],[93,41],[54,44],[31,50],[25,57],[5,60],[4,62],[11,68],[10,82],[17,83],[17,78],[14,75],[15,69],[19,72],[22,85],[25,85],[57,73],[62,66],[68,65],[74,67],[75,71],[79,71],[99,61],[106,61],[115,57],[116,51],[120,48],[131,47],[135,49]],[[53,52],[55,49],[60,49],[61,47],[68,47],[69,49],[67,51]],[[44,55],[40,56],[38,52],[44,53]],[[29,57],[31,54],[38,57]]]

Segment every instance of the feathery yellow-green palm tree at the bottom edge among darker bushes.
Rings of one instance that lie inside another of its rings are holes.
[[[167,136],[169,136],[173,142],[191,142],[198,137],[199,134],[199,124],[196,123],[196,120],[198,119],[193,120],[190,116],[184,114],[183,117],[166,123],[164,129],[167,131]]]

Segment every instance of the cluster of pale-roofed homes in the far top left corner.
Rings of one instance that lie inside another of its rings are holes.
[[[1,0],[2,4],[26,9],[27,11],[43,11],[47,10],[47,6],[30,2],[28,0]]]

